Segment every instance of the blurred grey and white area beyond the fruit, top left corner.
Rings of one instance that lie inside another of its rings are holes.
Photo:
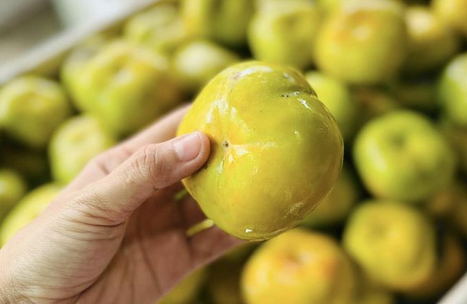
[[[0,66],[73,27],[115,16],[144,0],[0,0]]]

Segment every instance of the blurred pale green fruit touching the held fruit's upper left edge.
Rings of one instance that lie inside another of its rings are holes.
[[[194,40],[176,50],[172,67],[183,88],[196,93],[220,71],[238,62],[238,56],[209,40]]]

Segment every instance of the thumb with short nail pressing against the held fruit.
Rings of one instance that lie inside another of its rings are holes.
[[[75,208],[98,224],[120,224],[156,190],[196,172],[207,161],[209,148],[209,139],[201,132],[146,145],[108,176],[82,189],[73,200]]]

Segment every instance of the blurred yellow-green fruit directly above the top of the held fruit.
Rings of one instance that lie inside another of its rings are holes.
[[[309,67],[320,19],[319,8],[310,1],[269,3],[253,16],[249,25],[253,57],[298,69]]]

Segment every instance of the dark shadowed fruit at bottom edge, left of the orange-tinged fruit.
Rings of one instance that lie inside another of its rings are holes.
[[[243,304],[240,291],[242,265],[218,261],[209,270],[207,294],[212,304]]]

